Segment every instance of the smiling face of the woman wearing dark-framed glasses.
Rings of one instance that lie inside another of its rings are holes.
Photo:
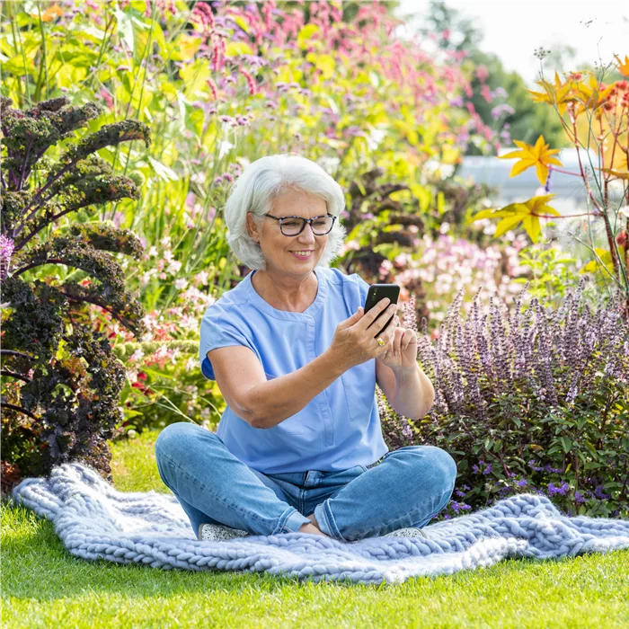
[[[307,195],[301,190],[285,190],[273,202],[269,214],[273,217],[322,217],[327,214],[323,199]],[[261,230],[256,228],[253,217],[246,217],[249,233],[257,241],[267,263],[267,270],[292,275],[308,275],[323,254],[328,235],[314,235],[306,224],[301,234],[287,236],[281,233],[279,221],[264,217]],[[293,252],[310,252],[309,257],[299,258]]]

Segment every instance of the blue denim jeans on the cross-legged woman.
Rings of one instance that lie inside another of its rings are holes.
[[[425,527],[447,505],[456,462],[434,446],[405,446],[380,462],[341,472],[262,474],[216,434],[186,421],[155,441],[157,468],[190,518],[270,536],[298,531],[314,512],[320,530],[344,542]]]

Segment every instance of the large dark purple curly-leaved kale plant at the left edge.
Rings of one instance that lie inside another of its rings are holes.
[[[0,96],[0,492],[71,460],[111,482],[106,439],[123,419],[125,370],[89,309],[144,332],[144,310],[112,255],[138,258],[142,246],[90,216],[139,197],[98,151],[132,140],[147,146],[149,129],[123,120],[76,138],[101,114],[98,105],[65,97],[27,111],[11,104]]]

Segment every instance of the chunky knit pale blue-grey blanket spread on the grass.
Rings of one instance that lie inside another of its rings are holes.
[[[629,520],[570,518],[544,496],[518,494],[424,527],[424,537],[343,543],[305,533],[199,541],[173,494],[119,492],[73,463],[27,478],[13,499],[49,518],[71,554],[193,571],[268,572],[298,580],[402,582],[490,566],[507,557],[559,558],[629,548]]]

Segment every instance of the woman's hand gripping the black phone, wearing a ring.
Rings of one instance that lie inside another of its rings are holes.
[[[394,339],[395,326],[392,321],[385,332],[381,332],[389,318],[397,312],[397,305],[390,304],[383,297],[367,314],[359,306],[349,319],[336,326],[330,350],[346,369],[356,367],[367,360],[385,354]],[[381,347],[376,341],[379,336],[385,344]]]

